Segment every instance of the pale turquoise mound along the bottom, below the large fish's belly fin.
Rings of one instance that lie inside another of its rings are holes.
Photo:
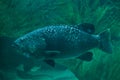
[[[24,71],[23,66],[19,66],[17,75],[25,80],[79,80],[67,67],[56,63],[53,68],[45,62],[39,62],[41,65],[34,66],[30,71]]]

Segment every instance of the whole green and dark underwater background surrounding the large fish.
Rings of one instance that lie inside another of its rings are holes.
[[[42,63],[42,70],[51,70],[46,73],[55,78],[36,70],[29,74],[18,71],[27,60],[11,47],[16,38],[44,26],[80,23],[94,24],[95,34],[110,28],[113,53],[93,49],[92,61],[56,61],[67,69],[54,72]],[[120,80],[120,1],[0,0],[0,80]]]

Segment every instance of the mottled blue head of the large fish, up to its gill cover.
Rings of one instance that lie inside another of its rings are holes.
[[[37,57],[46,47],[44,38],[23,36],[14,41],[13,46],[26,57]]]

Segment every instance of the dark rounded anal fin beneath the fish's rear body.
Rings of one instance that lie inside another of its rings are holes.
[[[80,60],[91,61],[93,59],[92,52],[86,52],[78,57]]]

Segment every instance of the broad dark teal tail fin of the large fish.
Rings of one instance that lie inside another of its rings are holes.
[[[110,34],[110,29],[107,29],[103,31],[102,33],[99,34],[100,37],[100,45],[99,48],[107,53],[112,53],[113,48],[111,44],[111,34]]]

